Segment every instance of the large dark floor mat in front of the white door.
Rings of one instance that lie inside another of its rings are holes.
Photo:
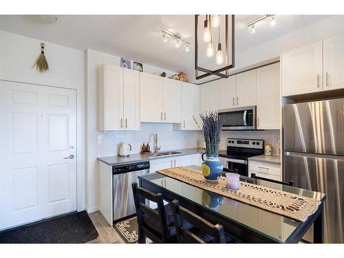
[[[83,244],[98,237],[86,211],[0,233],[3,244]]]

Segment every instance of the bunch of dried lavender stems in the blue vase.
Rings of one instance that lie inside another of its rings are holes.
[[[217,112],[208,112],[208,114],[200,114],[202,120],[202,128],[198,125],[197,120],[193,118],[197,126],[202,130],[202,136],[206,142],[206,153],[217,154],[219,150],[219,142],[221,140],[221,128],[224,124],[222,118],[217,116]]]

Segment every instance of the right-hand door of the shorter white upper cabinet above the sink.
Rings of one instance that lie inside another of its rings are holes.
[[[162,90],[163,122],[182,121],[182,83],[180,80],[164,78]],[[154,99],[158,98],[155,96]]]

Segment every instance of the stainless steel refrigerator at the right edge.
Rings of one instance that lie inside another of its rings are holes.
[[[325,193],[324,241],[344,242],[344,98],[283,106],[283,179]]]

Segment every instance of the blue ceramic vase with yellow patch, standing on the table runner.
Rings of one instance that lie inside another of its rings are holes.
[[[204,158],[204,155],[206,158]],[[217,181],[217,178],[221,176],[224,166],[219,161],[219,155],[217,154],[202,154],[202,173],[206,180]]]

